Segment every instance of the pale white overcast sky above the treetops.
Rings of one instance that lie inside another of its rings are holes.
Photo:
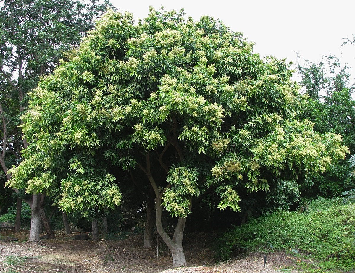
[[[263,56],[296,61],[297,53],[304,59],[319,62],[329,53],[342,64],[354,67],[355,46],[344,45],[355,34],[355,2],[350,0],[111,0],[118,11],[129,11],[135,18],[148,15],[149,5],[155,9],[184,9],[186,16],[199,20],[203,15],[221,19],[232,31],[243,32],[255,42],[254,52]]]

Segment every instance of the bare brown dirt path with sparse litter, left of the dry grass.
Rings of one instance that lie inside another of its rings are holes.
[[[7,235],[1,233],[3,237]],[[0,242],[1,273],[101,272],[101,261],[97,259],[99,242],[75,241],[57,235],[57,239],[37,244],[23,241],[26,233],[16,236],[17,242]]]

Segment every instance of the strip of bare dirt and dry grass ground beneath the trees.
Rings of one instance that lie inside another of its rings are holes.
[[[144,249],[140,234],[115,233],[95,242],[56,233],[56,239],[29,243],[28,231],[0,230],[0,237],[9,235],[18,241],[0,242],[0,273],[273,273],[295,262],[284,253],[271,253],[264,268],[263,254],[253,253],[241,260],[217,263],[207,247],[211,236],[206,234],[185,236],[185,255],[193,266],[175,269],[171,269],[171,256],[161,239],[152,249]]]

